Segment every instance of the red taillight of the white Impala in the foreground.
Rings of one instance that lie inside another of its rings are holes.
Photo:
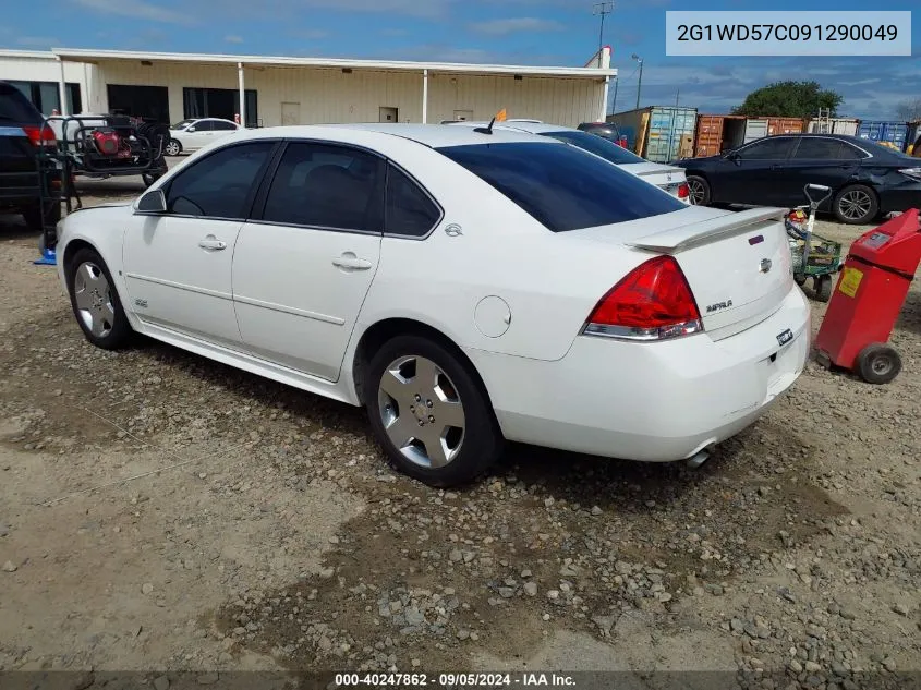
[[[703,330],[694,295],[678,262],[656,256],[602,298],[583,332],[626,340],[665,340]]]

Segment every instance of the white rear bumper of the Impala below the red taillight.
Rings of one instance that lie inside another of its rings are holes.
[[[779,346],[786,329],[793,339]],[[506,438],[590,455],[672,461],[762,415],[802,373],[810,307],[793,288],[761,324],[714,341],[580,336],[561,360],[469,351]]]

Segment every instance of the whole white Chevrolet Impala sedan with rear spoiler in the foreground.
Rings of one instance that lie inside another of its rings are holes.
[[[776,217],[523,132],[288,126],[68,216],[58,257],[92,343],[144,334],[364,405],[447,486],[506,439],[699,462],[754,422],[810,346]]]

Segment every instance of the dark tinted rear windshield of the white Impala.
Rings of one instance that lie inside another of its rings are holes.
[[[554,232],[687,208],[670,194],[574,146],[522,142],[468,144],[438,150]]]

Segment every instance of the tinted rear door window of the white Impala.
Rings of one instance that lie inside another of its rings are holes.
[[[266,197],[263,220],[380,232],[384,161],[334,144],[288,145]]]

